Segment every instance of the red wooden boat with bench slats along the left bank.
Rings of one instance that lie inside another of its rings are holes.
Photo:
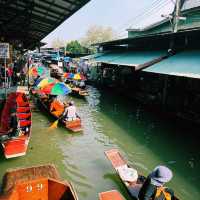
[[[16,111],[18,118],[18,136],[9,136],[11,111]],[[6,99],[0,128],[0,142],[6,158],[24,156],[31,137],[31,109],[27,96],[21,92],[10,93]]]

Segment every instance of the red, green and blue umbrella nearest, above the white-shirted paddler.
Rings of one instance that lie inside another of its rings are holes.
[[[66,95],[71,92],[71,88],[65,83],[50,83],[46,87],[41,89],[41,92],[51,95]]]

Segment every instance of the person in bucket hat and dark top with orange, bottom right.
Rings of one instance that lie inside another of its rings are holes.
[[[169,168],[157,166],[145,180],[139,192],[139,200],[175,200],[173,191],[163,187],[172,176]]]

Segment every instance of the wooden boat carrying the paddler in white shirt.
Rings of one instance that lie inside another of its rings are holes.
[[[54,119],[59,119],[59,116],[55,115],[53,112],[50,112],[50,106],[48,105],[47,99],[42,99],[39,97],[39,95],[36,95],[37,100],[39,104],[51,115],[54,117]],[[81,118],[77,117],[76,120],[66,122],[62,119],[59,120],[65,128],[72,132],[81,132],[83,130],[82,125],[81,125]]]

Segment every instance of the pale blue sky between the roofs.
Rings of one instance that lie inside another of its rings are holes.
[[[91,0],[65,20],[42,41],[51,47],[59,38],[66,43],[80,40],[93,25],[112,27],[119,38],[127,37],[127,28],[142,28],[162,20],[173,11],[174,0]]]

